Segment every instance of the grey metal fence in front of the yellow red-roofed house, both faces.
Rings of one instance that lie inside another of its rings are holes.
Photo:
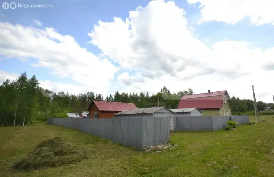
[[[227,126],[229,116],[190,116],[175,117],[175,131],[215,131]],[[248,116],[231,116],[239,125],[249,122]],[[176,128],[175,128],[176,127]]]

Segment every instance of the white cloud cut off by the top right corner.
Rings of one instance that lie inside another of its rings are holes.
[[[187,0],[189,4],[200,3],[202,17],[198,22],[222,21],[235,24],[244,17],[251,23],[274,25],[274,3],[271,0]]]

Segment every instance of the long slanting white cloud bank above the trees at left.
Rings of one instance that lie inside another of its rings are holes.
[[[34,67],[49,68],[55,77],[71,78],[97,93],[107,92],[119,69],[108,59],[99,59],[80,47],[73,37],[61,35],[53,28],[41,30],[0,23],[0,55],[37,59],[37,63],[32,63]]]

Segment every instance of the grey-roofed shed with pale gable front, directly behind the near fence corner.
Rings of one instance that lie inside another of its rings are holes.
[[[124,110],[114,114],[114,116],[126,117],[167,117],[169,118],[169,129],[174,130],[173,112],[166,107],[139,108]]]

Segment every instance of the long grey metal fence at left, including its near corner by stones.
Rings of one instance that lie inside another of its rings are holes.
[[[169,119],[163,117],[49,118],[48,124],[76,129],[138,149],[169,142]]]

